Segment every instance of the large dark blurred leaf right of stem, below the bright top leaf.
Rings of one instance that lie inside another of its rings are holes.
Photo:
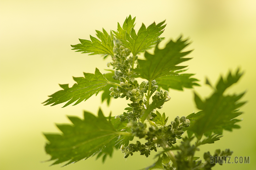
[[[166,75],[175,74],[171,71],[180,70],[187,67],[176,66],[177,64],[191,59],[183,58],[191,51],[181,52],[185,47],[188,46],[189,43],[187,43],[187,41],[188,40],[182,41],[181,37],[176,42],[171,40],[168,44],[166,44],[164,49],[159,49],[158,45],[156,45],[155,54],[152,55],[146,51],[146,60],[138,60],[140,68],[136,68],[135,71],[140,74],[141,78],[145,78],[149,81]],[[192,80],[196,81],[196,79]]]

